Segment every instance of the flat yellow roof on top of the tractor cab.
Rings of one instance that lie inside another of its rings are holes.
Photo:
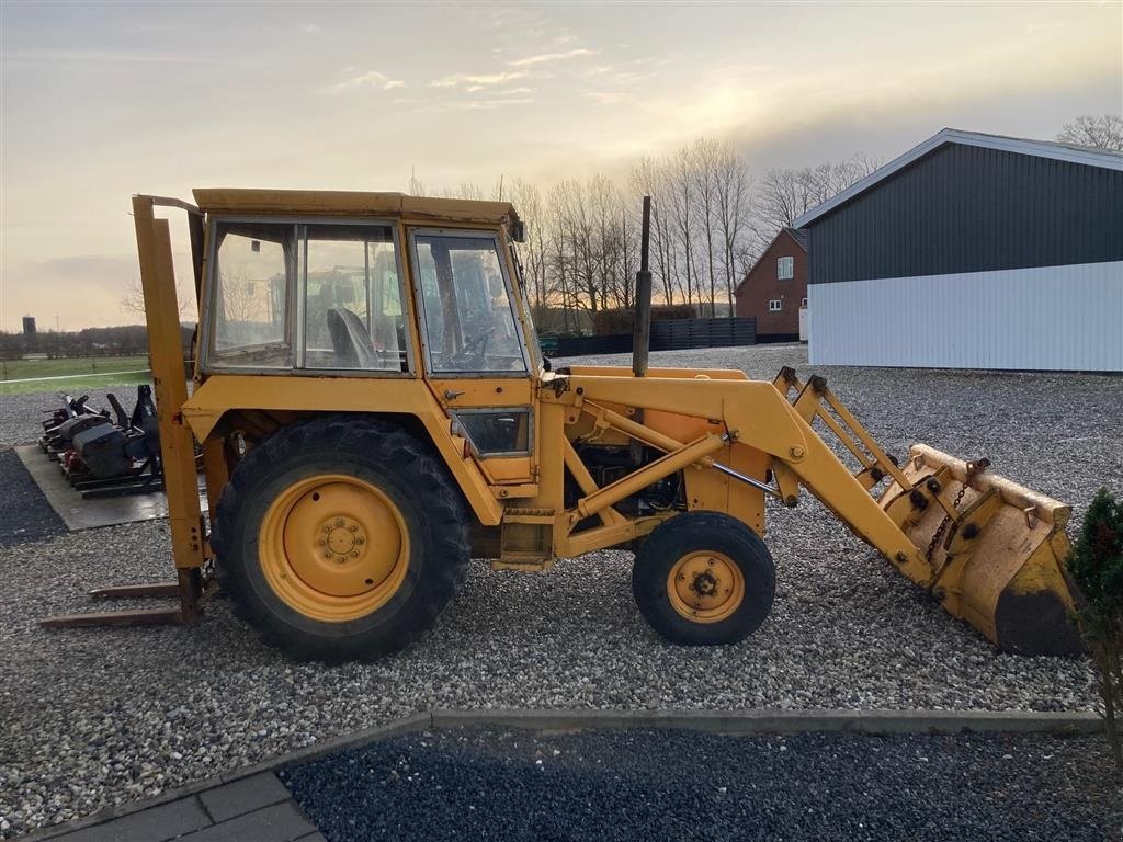
[[[206,213],[266,213],[337,217],[392,217],[431,222],[511,225],[519,216],[510,202],[433,199],[405,193],[344,190],[247,190],[198,187],[195,204]]]

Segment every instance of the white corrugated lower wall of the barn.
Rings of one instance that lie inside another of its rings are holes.
[[[1123,370],[1123,262],[807,290],[813,365]]]

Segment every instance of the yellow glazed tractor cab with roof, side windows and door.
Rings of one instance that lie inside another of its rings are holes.
[[[209,244],[198,388],[229,375],[423,379],[489,483],[529,482],[541,355],[513,210],[339,195],[337,217],[299,193],[266,210],[263,191],[197,191]]]

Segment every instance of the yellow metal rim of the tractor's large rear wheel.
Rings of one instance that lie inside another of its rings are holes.
[[[378,610],[409,568],[401,511],[381,489],[346,474],[301,479],[265,513],[258,561],[270,587],[313,620],[347,622]]]

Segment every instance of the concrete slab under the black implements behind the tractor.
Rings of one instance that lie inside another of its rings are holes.
[[[167,516],[167,496],[164,492],[82,500],[82,493],[66,482],[58,463],[48,459],[38,445],[20,445],[16,448],[16,454],[71,532]],[[202,491],[199,493],[199,501],[206,512],[207,495]]]

